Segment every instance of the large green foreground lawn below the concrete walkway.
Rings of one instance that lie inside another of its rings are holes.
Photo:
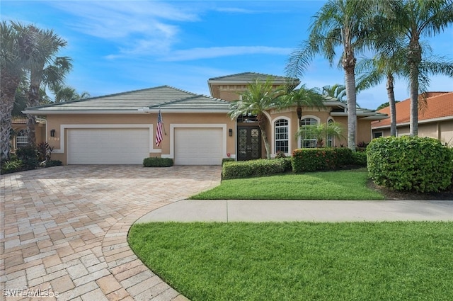
[[[129,241],[190,300],[451,300],[452,222],[151,223]]]

